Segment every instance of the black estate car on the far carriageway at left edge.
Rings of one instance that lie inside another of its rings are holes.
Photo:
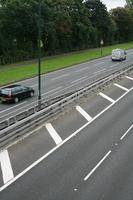
[[[15,102],[32,97],[35,91],[33,88],[22,85],[10,85],[0,89],[0,99],[2,102]]]

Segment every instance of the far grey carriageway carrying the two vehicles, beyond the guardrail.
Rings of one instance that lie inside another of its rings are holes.
[[[133,63],[132,49],[128,51],[127,60],[123,62],[112,62],[110,56],[107,56],[42,75],[42,100],[48,100],[82,88],[97,79],[123,68],[125,64],[128,63]],[[16,105],[0,104],[0,121],[37,104],[38,78],[35,77],[18,83],[33,87],[36,91],[36,95],[35,97],[25,99]]]

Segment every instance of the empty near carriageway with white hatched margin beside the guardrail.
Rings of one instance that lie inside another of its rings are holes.
[[[132,104],[130,74],[3,150],[0,200],[132,200]]]

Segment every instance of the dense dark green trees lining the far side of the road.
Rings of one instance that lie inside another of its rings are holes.
[[[0,0],[0,65],[38,52],[38,0]],[[133,0],[107,11],[100,0],[41,0],[42,56],[133,41]]]

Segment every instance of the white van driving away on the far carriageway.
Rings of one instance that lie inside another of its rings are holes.
[[[126,51],[123,49],[114,49],[112,50],[111,60],[126,60]]]

